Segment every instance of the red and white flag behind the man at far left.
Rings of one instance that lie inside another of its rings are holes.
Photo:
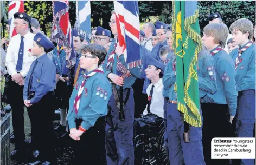
[[[14,29],[14,14],[16,12],[25,12],[24,1],[9,1],[9,4],[8,4],[8,19],[9,19],[9,25],[10,25],[9,41],[11,40],[11,37],[17,35],[17,32]]]

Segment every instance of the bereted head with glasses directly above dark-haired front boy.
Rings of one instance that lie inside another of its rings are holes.
[[[107,29],[103,29],[101,27],[97,27],[95,32],[95,43],[104,47],[105,44],[110,42],[111,32]]]

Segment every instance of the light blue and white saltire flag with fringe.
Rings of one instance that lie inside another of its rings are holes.
[[[87,42],[91,41],[91,5],[90,1],[76,1],[76,22],[74,29]]]

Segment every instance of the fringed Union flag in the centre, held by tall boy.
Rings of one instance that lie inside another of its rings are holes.
[[[117,74],[123,79],[130,77],[128,69],[142,64],[139,45],[139,7],[138,1],[114,1],[118,42],[124,45],[124,58],[127,68],[121,62],[117,63]]]

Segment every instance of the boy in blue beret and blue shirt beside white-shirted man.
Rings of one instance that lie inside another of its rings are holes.
[[[52,101],[56,67],[47,56],[47,52],[54,49],[54,44],[47,36],[37,33],[33,46],[31,54],[37,59],[31,64],[25,79],[23,100],[31,121],[33,149],[39,150],[36,162],[31,164],[41,161],[45,165],[55,162]]]

